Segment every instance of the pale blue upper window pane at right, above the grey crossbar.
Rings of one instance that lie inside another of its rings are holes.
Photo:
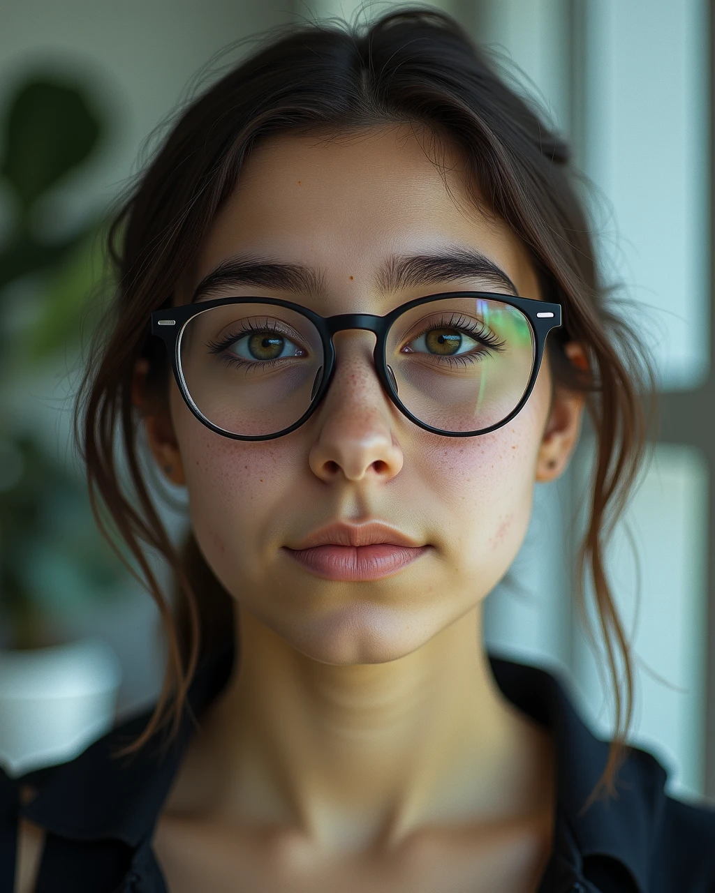
[[[694,388],[710,355],[708,4],[585,10],[585,171],[610,205],[601,252],[637,302],[661,387]]]

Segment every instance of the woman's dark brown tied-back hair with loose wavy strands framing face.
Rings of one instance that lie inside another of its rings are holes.
[[[215,645],[232,604],[193,538],[182,552],[172,545],[141,471],[132,371],[139,358],[148,361],[147,388],[164,404],[170,374],[164,346],[148,335],[149,313],[172,304],[257,140],[387,122],[419,126],[463,154],[478,186],[475,200],[485,200],[509,224],[531,254],[544,298],[563,306],[563,328],[550,339],[554,379],[585,393],[598,444],[582,563],[593,580],[616,695],[617,731],[600,782],[612,793],[633,678],[603,547],[639,467],[639,394],[652,390],[652,376],[634,333],[607,305],[568,147],[455,21],[422,9],[388,13],[362,29],[310,24],[269,32],[262,46],[181,111],[110,227],[117,288],[91,345],[76,430],[97,522],[110,541],[118,534],[123,546],[117,549],[128,547],[168,642],[164,689],[135,747],[167,719],[176,728],[199,656]],[[587,370],[568,363],[567,341],[585,347]],[[127,473],[119,471],[120,453]],[[175,609],[147,549],[174,572]]]

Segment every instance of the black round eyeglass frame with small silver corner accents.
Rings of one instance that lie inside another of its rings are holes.
[[[529,383],[518,404],[505,419],[490,425],[488,428],[482,428],[475,431],[445,431],[439,428],[433,428],[432,425],[428,425],[425,421],[420,421],[416,418],[415,415],[410,413],[407,406],[402,404],[400,396],[398,396],[396,383],[393,384],[393,380],[391,380],[391,368],[385,357],[388,332],[390,331],[392,324],[397,321],[403,313],[407,313],[409,310],[412,310],[413,307],[418,307],[419,305],[430,304],[436,300],[446,300],[454,297],[471,297],[491,301],[501,301],[502,304],[516,307],[517,310],[520,310],[521,313],[526,316],[534,333],[534,367],[532,369]],[[311,321],[323,342],[323,379],[321,380],[315,395],[311,399],[307,411],[303,413],[298,421],[294,421],[288,428],[277,431],[275,434],[234,434],[232,431],[214,425],[214,422],[207,419],[194,403],[193,398],[189,393],[186,380],[184,379],[183,372],[181,371],[181,335],[186,329],[189,321],[195,316],[198,316],[199,313],[205,313],[206,310],[211,310],[213,307],[221,307],[229,304],[265,304],[286,307],[295,313],[305,316],[307,320]],[[151,334],[164,341],[164,345],[166,346],[168,355],[171,359],[174,380],[181,391],[181,396],[183,397],[184,402],[189,406],[191,412],[198,418],[198,421],[205,424],[207,428],[215,431],[216,434],[221,434],[223,437],[231,438],[233,440],[274,440],[275,438],[281,438],[286,434],[290,434],[291,431],[296,430],[304,424],[310,416],[315,413],[315,410],[321,404],[332,383],[335,371],[335,346],[332,343],[332,336],[335,335],[336,332],[346,330],[364,330],[374,333],[375,345],[373,358],[377,377],[383,386],[383,390],[390,397],[391,402],[397,406],[400,413],[405,415],[409,421],[414,422],[419,428],[422,428],[425,431],[430,431],[433,434],[440,434],[442,437],[448,438],[474,438],[480,434],[488,434],[490,431],[497,430],[503,425],[508,424],[509,421],[511,421],[517,413],[520,413],[524,408],[526,401],[529,396],[531,396],[531,392],[534,389],[534,383],[539,374],[539,369],[541,368],[546,346],[546,338],[551,330],[558,329],[560,325],[560,304],[548,304],[545,301],[537,300],[534,297],[515,297],[488,291],[446,291],[435,295],[417,297],[412,301],[408,301],[407,304],[395,307],[394,310],[391,310],[390,313],[386,313],[384,316],[377,316],[373,313],[337,313],[334,316],[321,316],[319,313],[315,313],[308,307],[294,304],[292,301],[284,301],[280,297],[257,296],[219,297],[211,301],[199,301],[196,304],[186,304],[178,307],[169,307],[164,310],[156,310],[151,314]]]

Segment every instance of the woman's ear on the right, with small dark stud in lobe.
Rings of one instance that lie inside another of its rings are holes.
[[[568,359],[580,369],[588,368],[583,347],[575,342],[565,346]],[[579,391],[554,388],[551,413],[543,432],[536,459],[536,480],[555,480],[568,465],[576,447],[584,414],[584,396]]]

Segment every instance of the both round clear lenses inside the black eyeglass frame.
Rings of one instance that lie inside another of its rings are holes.
[[[499,300],[452,297],[417,305],[392,323],[385,362],[402,405],[450,433],[499,424],[517,407],[536,354],[524,313]],[[221,305],[181,333],[181,372],[207,421],[244,437],[290,428],[324,371],[315,325],[278,305]]]

